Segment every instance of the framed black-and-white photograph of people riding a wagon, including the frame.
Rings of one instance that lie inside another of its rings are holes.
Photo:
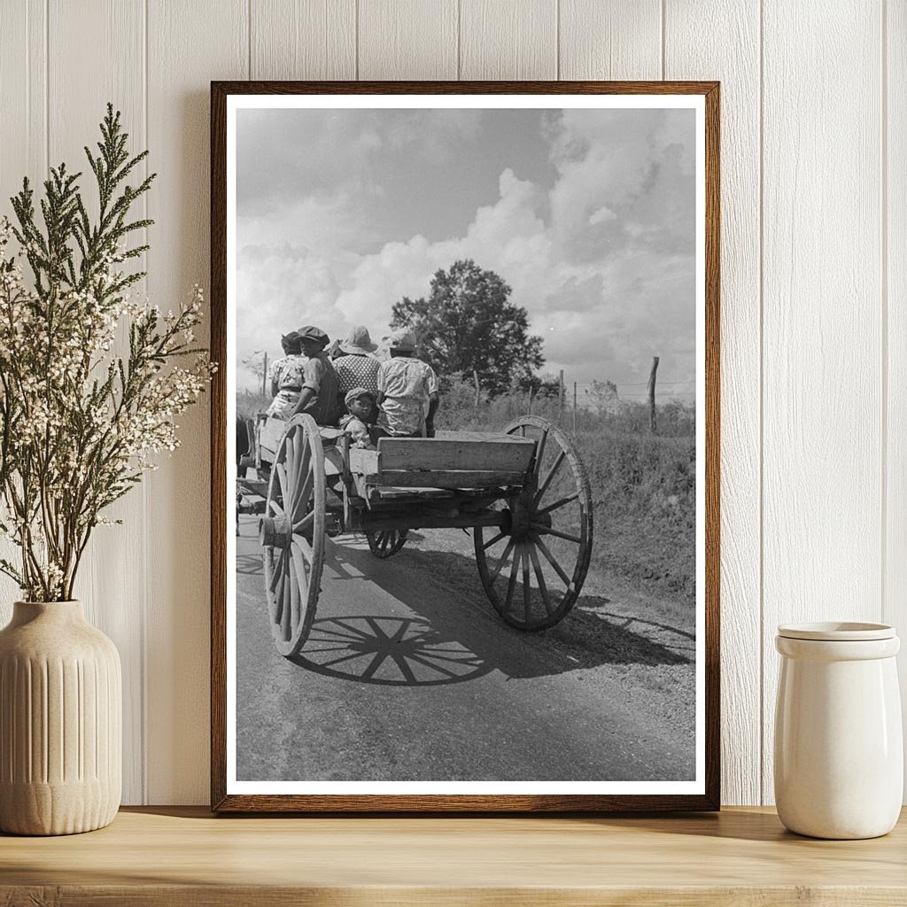
[[[717,83],[211,84],[213,809],[718,809],[718,260]]]

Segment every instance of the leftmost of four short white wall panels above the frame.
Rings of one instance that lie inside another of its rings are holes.
[[[356,0],[249,0],[253,79],[355,79]]]

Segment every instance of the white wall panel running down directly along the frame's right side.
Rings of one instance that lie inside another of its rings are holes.
[[[668,79],[721,82],[722,798],[760,802],[759,10],[668,0]]]

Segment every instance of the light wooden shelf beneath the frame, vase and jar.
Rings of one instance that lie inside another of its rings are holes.
[[[89,903],[892,907],[907,903],[907,816],[872,841],[815,841],[758,808],[288,818],[141,807],[91,834],[0,836],[0,904]]]

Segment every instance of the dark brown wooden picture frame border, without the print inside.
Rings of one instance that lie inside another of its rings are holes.
[[[227,792],[227,101],[231,94],[697,94],[705,98],[705,793],[701,795],[239,795]],[[719,83],[212,82],[210,93],[211,809],[299,813],[564,813],[720,808]]]

